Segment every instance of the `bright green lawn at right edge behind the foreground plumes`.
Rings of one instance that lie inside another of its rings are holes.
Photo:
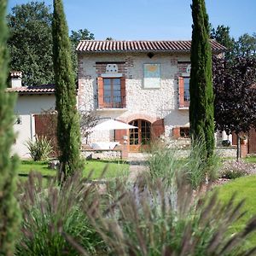
[[[245,227],[247,221],[256,215],[256,175],[236,178],[229,183],[218,187],[218,196],[221,201],[229,201],[230,197],[236,194],[236,202],[245,199],[243,210],[246,214],[234,224],[230,232],[241,230]],[[256,244],[256,234],[247,240],[245,247],[251,247]]]

